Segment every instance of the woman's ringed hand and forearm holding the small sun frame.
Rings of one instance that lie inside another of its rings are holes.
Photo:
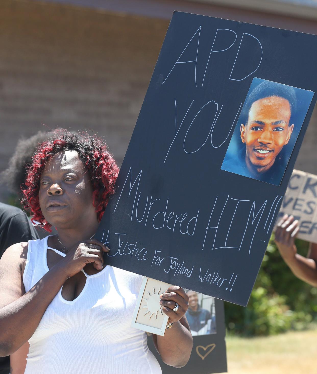
[[[181,368],[187,364],[193,349],[193,337],[185,317],[188,296],[183,288],[171,286],[160,297],[163,312],[173,325],[166,329],[164,336],[153,335],[154,345],[165,364]],[[178,303],[177,312],[173,312],[175,303]]]

